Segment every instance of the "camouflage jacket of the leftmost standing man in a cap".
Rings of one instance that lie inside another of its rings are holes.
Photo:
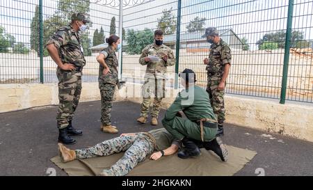
[[[79,33],[72,29],[72,26],[64,26],[58,29],[48,40],[47,45],[54,44],[63,63],[72,63],[77,67],[86,65],[85,57]]]

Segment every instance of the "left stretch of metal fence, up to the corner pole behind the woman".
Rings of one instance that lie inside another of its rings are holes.
[[[97,81],[99,63],[97,63],[95,55],[99,53],[97,49],[102,48],[104,36],[108,37],[110,34],[113,17],[115,17],[116,30],[118,30],[119,18],[116,8],[86,0],[1,0],[1,43],[6,39],[12,39],[12,45],[3,44],[0,47],[0,83],[51,83],[58,81],[56,63],[49,57],[45,44],[56,29],[70,24],[70,16],[78,11],[88,13],[90,20],[93,21],[89,30],[81,37],[88,62],[84,68],[83,81]],[[96,30],[99,38],[94,39]],[[40,35],[40,31],[42,31],[42,35]],[[40,51],[40,47],[42,47],[42,51]],[[96,49],[93,50],[93,47]]]

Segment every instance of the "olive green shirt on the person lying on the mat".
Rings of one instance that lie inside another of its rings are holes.
[[[181,147],[180,141],[174,138],[166,129],[154,129],[149,132],[155,138],[156,141],[156,150],[165,150],[169,148],[170,145],[177,145]]]

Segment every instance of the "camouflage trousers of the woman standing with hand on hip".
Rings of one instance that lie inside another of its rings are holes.
[[[101,122],[104,126],[111,125],[111,111],[115,86],[115,84],[99,82],[99,89],[101,94]]]

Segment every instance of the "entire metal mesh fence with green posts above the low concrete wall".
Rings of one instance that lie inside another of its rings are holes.
[[[97,81],[95,55],[102,46],[93,45],[94,33],[102,26],[108,36],[112,17],[116,18],[118,31],[118,7],[104,6],[104,1],[0,2],[1,39],[9,41],[7,47],[0,47],[1,83],[56,81],[56,65],[49,56],[44,51],[38,56],[35,50],[26,50],[31,49],[32,39],[36,41],[39,36],[38,32],[37,37],[31,38],[31,23],[40,2],[44,43],[50,29],[58,24],[54,23],[60,18],[56,15],[65,19],[77,8],[81,10],[79,7],[88,10],[93,25],[84,41],[85,52],[89,51],[84,80]],[[168,68],[172,74],[170,85],[179,84],[174,73],[191,68],[197,74],[198,84],[205,87],[207,74],[202,60],[209,55],[209,44],[201,35],[205,28],[214,26],[232,49],[227,93],[271,98],[281,103],[285,100],[313,103],[312,7],[312,0],[158,0],[126,7],[122,22],[126,33],[122,76],[130,81],[142,80],[145,68],[138,63],[138,49],[150,42],[152,31],[161,28],[166,31],[165,44],[177,58],[176,65]],[[10,43],[10,35],[15,37],[14,42]],[[129,43],[130,38],[138,38],[137,43]]]

